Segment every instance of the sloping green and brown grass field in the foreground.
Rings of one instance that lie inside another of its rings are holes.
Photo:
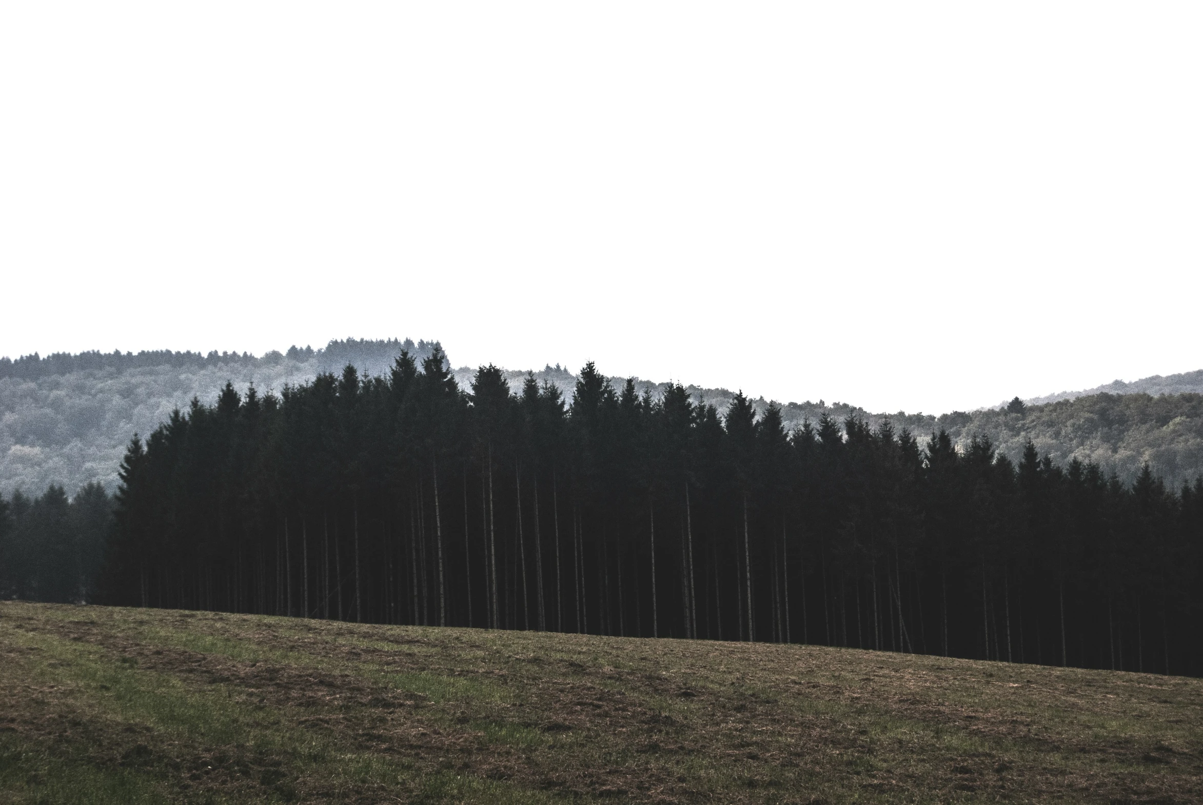
[[[1203,801],[1203,681],[0,603],[2,803]]]

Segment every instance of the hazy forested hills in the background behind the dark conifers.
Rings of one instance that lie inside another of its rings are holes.
[[[249,353],[143,351],[138,353],[36,353],[0,358],[0,494],[37,494],[51,484],[70,494],[88,483],[117,489],[118,465],[135,433],[149,434],[192,398],[211,404],[232,382],[239,392],[251,384],[260,393],[279,393],[320,374],[356,366],[362,375],[383,375],[402,350],[416,360],[429,357],[438,341],[332,340],[325,347],[290,347],[285,352]],[[604,366],[602,368],[604,370]],[[475,368],[452,371],[467,389]],[[571,399],[577,376],[559,364],[544,369],[503,370],[511,389],[521,390],[528,374],[558,387]],[[621,387],[624,377],[611,377]],[[658,399],[668,382],[635,380],[640,394]],[[687,384],[695,402],[725,411],[734,392]],[[752,400],[758,413],[769,405]],[[989,437],[1000,454],[1018,461],[1029,440],[1061,465],[1077,458],[1114,472],[1131,484],[1148,464],[1169,488],[1203,475],[1203,370],[1115,381],[1083,392],[1035,398],[1025,405],[996,405],[940,416],[870,412],[851,402],[789,401],[781,404],[788,429],[823,413],[843,423],[863,419],[872,428],[889,421],[926,437],[946,430],[958,447],[973,437]]]

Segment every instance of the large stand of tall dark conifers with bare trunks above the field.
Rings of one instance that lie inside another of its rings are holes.
[[[1125,487],[736,395],[571,400],[435,350],[231,386],[122,466],[114,603],[1203,672],[1203,479]]]

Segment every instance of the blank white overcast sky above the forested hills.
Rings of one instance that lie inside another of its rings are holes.
[[[1203,6],[0,5],[0,356],[940,413],[1203,368]]]

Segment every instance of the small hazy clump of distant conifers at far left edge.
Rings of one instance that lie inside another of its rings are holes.
[[[55,485],[40,497],[0,496],[0,597],[93,601],[112,515],[113,500],[97,483],[72,499]]]

